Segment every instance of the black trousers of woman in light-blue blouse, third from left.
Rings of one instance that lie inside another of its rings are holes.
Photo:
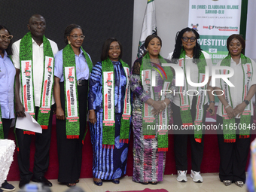
[[[66,120],[56,119],[57,148],[59,157],[59,176],[58,181],[63,183],[74,183],[80,178],[82,164],[82,140],[84,137],[87,123],[87,90],[88,81],[85,86],[78,86],[78,104],[79,104],[79,139],[66,138]],[[60,99],[64,113],[65,93],[64,83],[59,83]]]

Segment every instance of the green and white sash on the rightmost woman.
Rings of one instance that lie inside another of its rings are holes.
[[[221,66],[229,66],[230,67],[231,56],[230,54],[226,56],[225,59],[221,61]],[[251,77],[253,75],[253,68],[251,65],[251,59],[244,56],[241,53],[241,75],[243,75],[243,89],[242,89],[242,101],[248,94],[248,91],[251,87]],[[227,74],[226,69],[220,70],[220,75]],[[227,103],[233,108],[232,96],[230,94],[230,87],[227,85],[223,79],[221,79],[221,89],[224,91],[224,97]],[[241,102],[242,102],[241,101]],[[236,130],[233,129],[235,118],[230,119],[227,115],[227,111],[222,104],[222,118],[223,118],[223,133],[224,133],[224,142],[236,142]],[[240,117],[239,127],[239,138],[248,138],[250,136],[250,126],[251,126],[251,105],[247,105],[245,110],[242,112]]]

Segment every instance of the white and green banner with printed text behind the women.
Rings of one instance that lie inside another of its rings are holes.
[[[227,56],[227,38],[239,34],[240,17],[241,0],[190,0],[188,26],[200,34],[200,46],[213,64]]]

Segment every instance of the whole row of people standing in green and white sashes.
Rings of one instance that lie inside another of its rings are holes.
[[[218,94],[218,124],[245,123],[249,126],[252,123],[253,106],[250,100],[256,92],[256,66],[252,59],[242,54],[245,41],[240,35],[231,35],[227,39],[229,54],[218,63],[218,66],[227,66],[235,71],[230,78],[235,85],[233,88],[222,80],[217,80],[213,87],[211,75],[205,79],[206,66],[211,69],[212,60],[208,53],[201,50],[197,42],[200,35],[194,29],[185,28],[177,33],[175,49],[167,59],[160,56],[160,37],[149,35],[145,39],[145,54],[136,59],[130,70],[130,66],[121,59],[123,47],[116,38],[105,41],[101,61],[93,66],[90,55],[81,46],[85,38],[81,26],[72,24],[66,27],[66,47],[60,51],[56,43],[44,36],[45,28],[44,17],[33,15],[29,19],[29,32],[11,46],[11,32],[0,26],[1,139],[8,138],[15,117],[14,98],[16,116],[31,115],[42,127],[42,133],[15,130],[19,187],[30,180],[52,186],[44,178],[44,173],[49,165],[54,113],[59,157],[58,181],[68,187],[79,182],[88,113],[93,145],[93,182],[99,186],[104,180],[119,184],[120,177],[126,174],[131,131],[133,181],[142,184],[163,181],[168,130],[148,129],[148,126],[168,125],[171,116],[178,127],[204,124],[206,111],[215,114],[212,90],[224,90],[224,95]],[[175,70],[163,63],[175,63],[183,69],[184,86],[175,86]],[[203,87],[187,84],[186,70],[190,72],[192,82],[207,83]],[[226,72],[219,70],[218,73]],[[161,94],[161,90],[171,90],[171,93]],[[187,90],[194,93],[182,94]],[[197,94],[195,90],[197,93],[204,93],[200,90],[210,91],[206,96]],[[175,91],[179,94],[173,94]],[[33,172],[30,172],[29,148],[33,135],[36,137],[35,161]],[[200,166],[204,133],[197,129],[174,132],[177,181],[187,181],[187,137],[190,137],[192,154],[190,176],[195,182],[203,182]],[[245,183],[250,130],[218,130],[218,144],[221,181],[225,185],[235,182],[242,187]],[[7,181],[2,188],[14,190]]]

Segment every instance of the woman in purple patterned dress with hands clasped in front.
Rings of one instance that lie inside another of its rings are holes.
[[[174,71],[162,66],[167,60],[160,56],[162,41],[157,35],[145,40],[147,52],[136,59],[131,72],[133,99],[133,181],[157,184],[163,181],[168,150],[168,127],[172,100]],[[166,91],[167,92],[167,91]]]

